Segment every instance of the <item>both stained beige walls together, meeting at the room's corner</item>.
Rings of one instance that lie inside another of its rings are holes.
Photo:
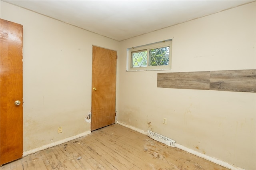
[[[157,88],[157,73],[167,71],[126,72],[127,48],[170,38],[169,72],[256,69],[255,4],[116,42],[1,1],[0,17],[24,28],[24,151],[90,131],[84,117],[98,45],[120,47],[118,121],[255,169],[255,93]]]

